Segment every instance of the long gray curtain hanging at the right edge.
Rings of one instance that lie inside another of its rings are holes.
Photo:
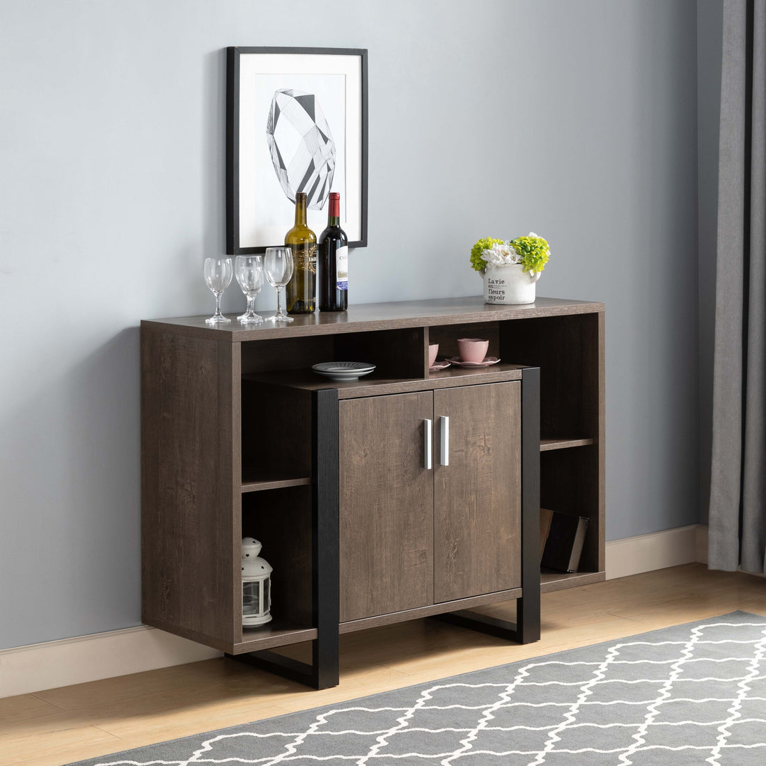
[[[766,571],[766,0],[724,0],[708,562]]]

